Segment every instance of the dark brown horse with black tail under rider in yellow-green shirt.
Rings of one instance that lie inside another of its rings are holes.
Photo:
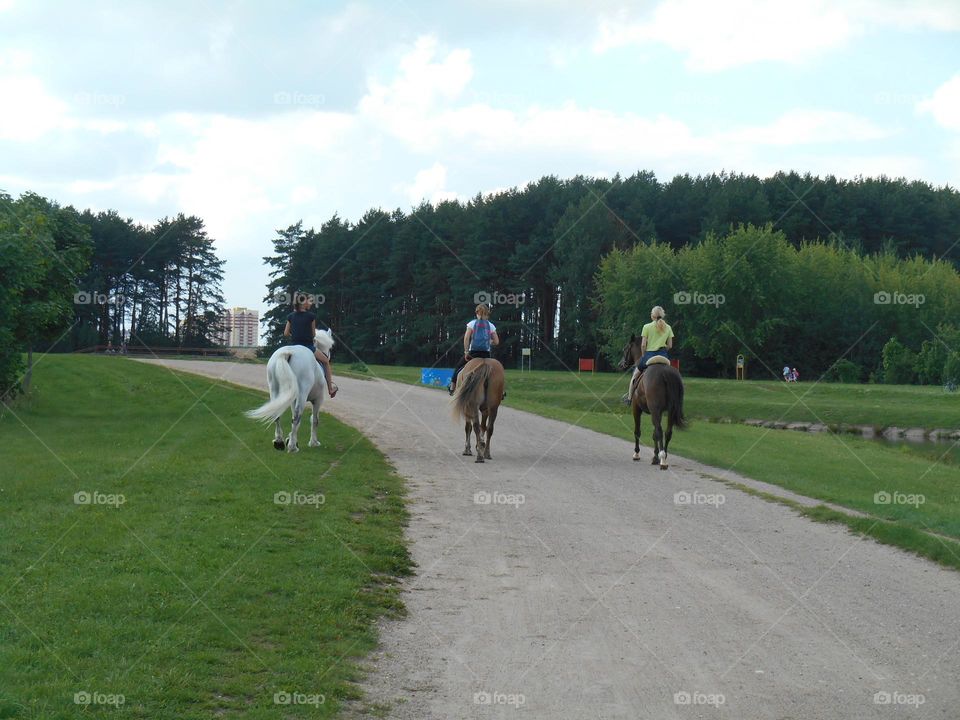
[[[623,358],[618,366],[621,370],[635,367],[643,356],[640,349],[641,339],[633,335],[623,348]],[[653,461],[660,464],[661,470],[667,469],[667,446],[673,437],[673,428],[685,430],[687,420],[683,416],[683,379],[680,372],[668,364],[647,365],[639,382],[635,383],[633,401],[633,459],[640,459],[640,417],[648,413],[653,420]],[[667,432],[661,427],[661,416],[666,412]]]

